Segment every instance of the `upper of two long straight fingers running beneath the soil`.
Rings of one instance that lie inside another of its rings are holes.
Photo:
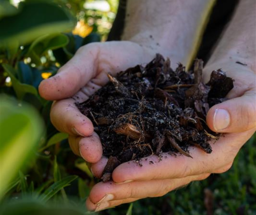
[[[160,161],[156,155],[142,158],[140,163],[126,162],[115,168],[112,179],[116,183],[125,181],[149,181],[152,179],[184,178],[201,173],[219,173],[220,168],[232,165],[242,145],[253,135],[254,129],[241,133],[228,133],[211,144],[210,154],[195,147],[190,148],[188,158],[183,155],[162,154]],[[229,155],[229,156],[227,156]]]

